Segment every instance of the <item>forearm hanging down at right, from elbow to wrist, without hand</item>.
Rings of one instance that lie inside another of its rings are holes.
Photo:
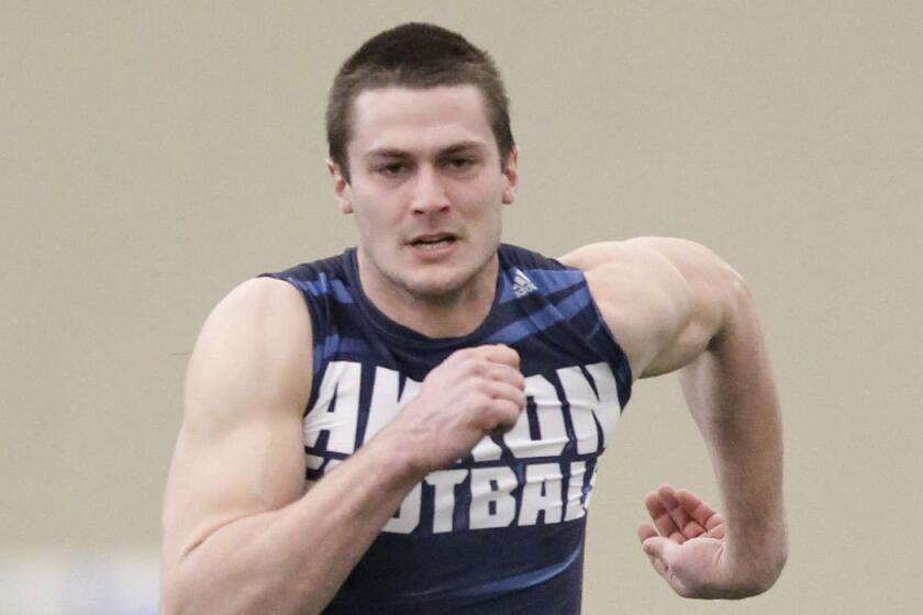
[[[680,373],[709,446],[727,519],[727,556],[749,590],[775,582],[787,556],[778,399],[749,295],[736,288],[709,350]]]

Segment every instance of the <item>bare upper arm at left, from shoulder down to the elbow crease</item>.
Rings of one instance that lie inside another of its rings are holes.
[[[298,291],[286,287],[245,282],[202,327],[164,501],[165,562],[303,492],[310,321]]]

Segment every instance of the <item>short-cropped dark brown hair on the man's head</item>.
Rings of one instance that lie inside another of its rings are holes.
[[[363,91],[391,86],[425,89],[462,85],[472,85],[481,91],[500,164],[505,165],[514,142],[510,101],[497,65],[487,52],[460,34],[429,23],[407,23],[369,38],[340,68],[326,109],[331,159],[349,181],[346,144],[353,136],[353,101]]]

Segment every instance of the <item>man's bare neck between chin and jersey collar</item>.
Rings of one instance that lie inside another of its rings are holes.
[[[446,292],[415,292],[374,272],[375,265],[358,251],[359,281],[369,301],[396,323],[427,337],[459,337],[487,317],[497,292],[497,254],[460,288]]]

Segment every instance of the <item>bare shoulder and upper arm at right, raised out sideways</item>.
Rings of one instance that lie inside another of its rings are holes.
[[[637,237],[580,247],[561,262],[583,271],[603,320],[629,356],[633,373],[681,367],[722,321],[725,289],[739,277],[709,248],[688,239]],[[688,344],[692,340],[694,344]],[[663,354],[668,355],[667,359]]]

